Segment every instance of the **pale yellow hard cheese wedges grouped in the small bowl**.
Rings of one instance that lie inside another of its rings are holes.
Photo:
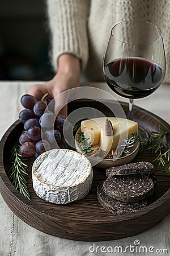
[[[123,143],[123,139],[130,138],[138,132],[138,123],[124,118],[108,117],[112,123],[113,135],[105,135],[105,117],[82,121],[81,130],[92,146],[100,146],[104,151],[115,150]]]

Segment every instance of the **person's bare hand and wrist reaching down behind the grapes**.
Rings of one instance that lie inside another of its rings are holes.
[[[28,94],[40,100],[45,93],[49,93],[50,98],[54,98],[54,112],[58,117],[66,118],[67,105],[64,102],[67,102],[69,92],[67,95],[63,95],[62,93],[71,88],[78,87],[79,76],[79,59],[70,54],[61,55],[58,59],[58,72],[53,79],[44,84],[36,84],[29,87]],[[58,97],[55,98],[56,96]],[[62,108],[63,105],[65,106]],[[59,113],[58,109],[61,109]]]

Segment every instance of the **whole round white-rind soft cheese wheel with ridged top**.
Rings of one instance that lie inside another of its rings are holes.
[[[32,166],[35,193],[55,204],[82,199],[90,191],[92,177],[90,160],[73,150],[55,148],[46,151]]]

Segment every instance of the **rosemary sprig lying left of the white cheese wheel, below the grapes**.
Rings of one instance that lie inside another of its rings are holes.
[[[22,155],[20,155],[19,148],[20,144],[17,141],[14,144],[11,152],[10,160],[12,166],[9,170],[9,179],[20,193],[27,197],[27,199],[31,200],[27,189],[27,181],[24,178],[25,175],[28,175],[27,160]]]

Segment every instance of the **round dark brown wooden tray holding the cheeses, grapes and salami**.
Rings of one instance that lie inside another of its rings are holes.
[[[128,105],[125,103],[121,105],[127,112]],[[105,115],[112,115],[105,105],[91,100],[71,102],[69,112],[85,106],[102,109]],[[158,126],[162,125],[168,131],[167,141],[170,141],[170,126],[156,115],[135,106],[134,121],[137,121],[139,127],[146,132],[158,130]],[[71,240],[115,240],[133,236],[151,228],[170,212],[170,177],[165,175],[162,167],[158,167],[156,164],[157,191],[150,198],[148,206],[135,213],[116,217],[99,204],[96,197],[96,187],[97,184],[106,179],[105,170],[100,168],[94,168],[92,188],[84,199],[67,205],[55,205],[41,200],[32,188],[31,166],[34,158],[28,160],[27,184],[31,201],[25,199],[8,179],[11,148],[22,129],[23,125],[16,121],[7,130],[0,143],[0,191],[12,212],[34,228],[53,236]],[[133,162],[141,160],[152,162],[153,159],[155,159],[155,154],[148,154],[148,152],[139,150]]]

